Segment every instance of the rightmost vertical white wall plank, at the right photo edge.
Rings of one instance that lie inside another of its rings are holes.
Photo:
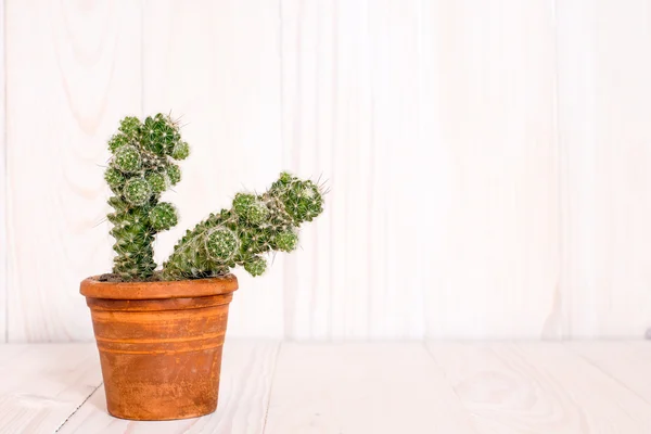
[[[564,335],[651,326],[651,3],[557,2]]]

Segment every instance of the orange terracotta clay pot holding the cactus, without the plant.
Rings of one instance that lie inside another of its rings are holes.
[[[228,305],[238,279],[81,282],[100,350],[108,412],[133,420],[217,408]]]

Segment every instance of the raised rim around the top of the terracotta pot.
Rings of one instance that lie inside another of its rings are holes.
[[[161,282],[100,282],[98,278],[92,276],[81,281],[79,292],[90,298],[166,299],[229,294],[238,289],[234,275]]]

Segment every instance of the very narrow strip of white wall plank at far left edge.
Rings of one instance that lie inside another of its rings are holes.
[[[0,1],[0,343],[7,342],[7,81],[4,76],[4,1]]]

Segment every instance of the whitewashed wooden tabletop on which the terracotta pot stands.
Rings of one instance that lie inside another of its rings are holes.
[[[215,413],[106,413],[94,344],[0,345],[0,433],[651,433],[651,343],[227,341]]]

